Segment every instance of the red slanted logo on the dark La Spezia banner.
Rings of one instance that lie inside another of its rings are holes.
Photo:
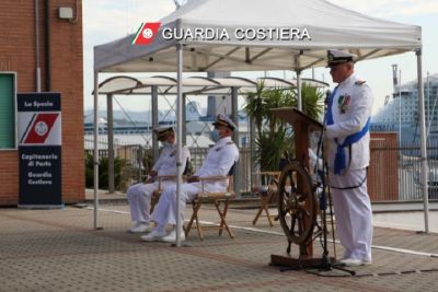
[[[44,144],[59,114],[37,114],[24,139],[24,144]]]

